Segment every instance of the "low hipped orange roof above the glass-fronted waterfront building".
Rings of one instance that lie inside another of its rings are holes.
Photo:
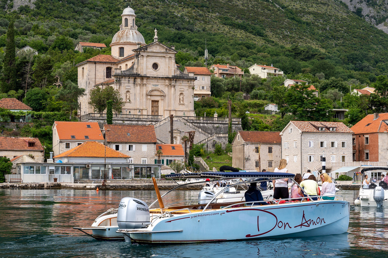
[[[54,158],[62,157],[85,157],[85,158],[130,158],[119,151],[113,150],[102,143],[84,142],[73,149],[61,153]]]

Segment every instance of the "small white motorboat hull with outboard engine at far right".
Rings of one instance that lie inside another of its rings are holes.
[[[375,189],[379,189],[379,191],[376,193]],[[355,205],[361,205],[361,206],[371,206],[371,207],[378,207],[379,201],[382,202],[381,206],[388,206],[388,188],[382,188],[380,186],[377,186],[375,188],[363,188],[360,187],[360,190],[358,192],[358,198],[354,200]],[[376,199],[376,200],[375,200]],[[377,201],[377,202],[376,202]]]

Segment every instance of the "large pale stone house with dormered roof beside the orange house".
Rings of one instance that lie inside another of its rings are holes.
[[[343,122],[290,121],[281,131],[281,157],[291,173],[321,171],[326,158],[326,172],[334,162],[352,161],[353,131]]]

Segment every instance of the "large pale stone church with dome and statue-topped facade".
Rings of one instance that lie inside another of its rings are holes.
[[[177,68],[177,51],[158,42],[156,29],[154,42],[146,44],[137,31],[132,8],[125,8],[121,17],[120,30],[110,44],[112,54],[100,54],[76,65],[78,87],[85,89],[79,99],[79,115],[94,113],[88,104],[92,89],[112,86],[125,103],[123,114],[195,116],[196,79]]]

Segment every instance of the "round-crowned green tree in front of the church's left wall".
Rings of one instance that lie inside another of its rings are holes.
[[[95,112],[102,114],[107,108],[107,101],[113,100],[113,110],[121,112],[121,108],[124,106],[123,99],[120,97],[120,92],[108,86],[104,89],[96,87],[90,91],[90,101]]]

